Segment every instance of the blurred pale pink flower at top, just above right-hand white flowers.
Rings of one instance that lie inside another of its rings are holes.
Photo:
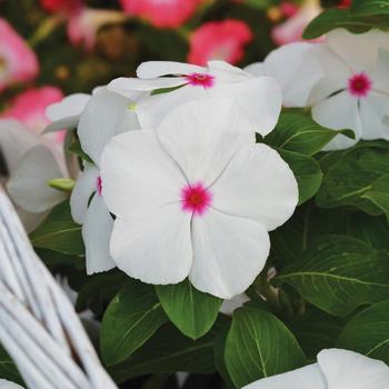
[[[279,46],[301,41],[303,30],[320,12],[318,0],[306,1],[293,17],[273,28],[273,41]]]

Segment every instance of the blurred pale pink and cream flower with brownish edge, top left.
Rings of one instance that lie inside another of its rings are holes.
[[[84,7],[68,19],[68,37],[73,44],[83,43],[88,50],[91,50],[100,27],[121,22],[124,19],[124,14],[119,11]]]

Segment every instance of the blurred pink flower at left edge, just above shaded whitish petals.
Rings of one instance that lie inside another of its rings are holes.
[[[0,114],[2,119],[17,119],[37,133],[50,123],[46,108],[62,100],[63,93],[56,87],[29,89],[17,96],[9,108]],[[57,140],[63,139],[64,132],[56,133]]]

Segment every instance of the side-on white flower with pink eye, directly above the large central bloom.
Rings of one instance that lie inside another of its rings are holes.
[[[176,88],[139,101],[137,111],[144,128],[156,128],[179,103],[221,97],[235,99],[253,129],[265,136],[275,128],[281,110],[281,91],[276,80],[255,77],[223,61],[209,61],[205,68],[180,62],[143,62],[137,74],[138,79],[113,80],[108,89],[132,97],[134,90]],[[169,74],[172,77],[162,77]]]

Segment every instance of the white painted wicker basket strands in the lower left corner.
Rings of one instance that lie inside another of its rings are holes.
[[[30,389],[114,389],[0,187],[0,343]]]

